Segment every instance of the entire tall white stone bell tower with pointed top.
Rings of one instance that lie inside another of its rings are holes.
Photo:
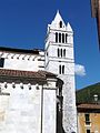
[[[46,70],[58,74],[58,78],[63,81],[61,92],[63,132],[77,133],[73,30],[70,23],[66,25],[59,11],[51,24],[48,24]]]

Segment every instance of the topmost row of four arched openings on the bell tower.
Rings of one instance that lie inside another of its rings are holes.
[[[67,43],[68,42],[68,34],[67,33],[58,33],[56,32],[56,43]]]

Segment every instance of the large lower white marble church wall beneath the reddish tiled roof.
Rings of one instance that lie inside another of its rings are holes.
[[[0,83],[0,133],[56,133],[56,82]]]

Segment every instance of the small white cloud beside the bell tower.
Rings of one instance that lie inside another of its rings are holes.
[[[77,75],[84,76],[86,75],[86,69],[81,64],[76,64],[74,65],[74,72]]]

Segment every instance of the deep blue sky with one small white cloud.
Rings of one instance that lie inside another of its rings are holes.
[[[100,82],[100,52],[90,0],[0,0],[0,47],[44,49],[57,10],[74,32],[76,88]]]

